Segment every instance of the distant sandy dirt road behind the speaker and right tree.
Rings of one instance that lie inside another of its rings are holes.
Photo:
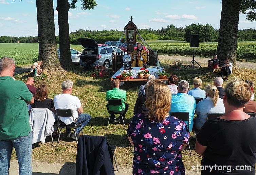
[[[172,60],[177,59],[177,60],[181,60],[181,61],[191,61],[192,60],[192,56],[158,55],[158,58],[172,59]],[[200,63],[207,64],[207,60],[209,60],[209,58],[195,57],[195,60],[199,64]],[[236,61],[236,64],[237,64],[238,67],[256,69],[256,63],[255,62]]]

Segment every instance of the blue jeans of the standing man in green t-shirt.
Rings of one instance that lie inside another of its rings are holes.
[[[19,162],[19,175],[32,174],[32,138],[31,132],[28,136],[19,136],[13,140],[0,140],[0,175],[7,175],[10,168],[10,160],[13,151]]]

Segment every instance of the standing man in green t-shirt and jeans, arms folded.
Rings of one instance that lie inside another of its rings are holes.
[[[14,70],[14,59],[0,59],[0,174],[8,174],[15,148],[19,175],[31,175],[32,138],[27,104],[34,103],[34,98],[24,82],[13,78]]]

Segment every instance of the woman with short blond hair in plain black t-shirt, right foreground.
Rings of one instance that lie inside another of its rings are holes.
[[[238,78],[226,84],[225,114],[206,121],[197,135],[196,153],[206,168],[201,174],[255,175],[256,118],[243,112],[251,96],[250,86]]]

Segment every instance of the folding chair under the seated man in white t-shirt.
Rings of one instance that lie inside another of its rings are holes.
[[[63,128],[74,128],[74,130],[75,130],[75,129],[77,128],[77,126],[76,126],[76,123],[75,123],[75,120],[74,120],[74,116],[73,116],[73,114],[72,114],[72,110],[71,110],[71,109],[56,109],[56,114],[57,114],[57,120],[58,120],[58,122],[57,122],[58,125],[57,125],[57,126],[58,126],[58,129],[60,128],[59,137],[58,137],[58,141],[57,141],[57,145],[56,145],[56,147],[58,147],[58,143],[59,143],[59,138],[60,138],[61,130],[62,130]],[[71,116],[72,116],[73,121],[74,121],[74,125],[69,125],[69,126],[67,126],[67,125],[64,125],[64,124],[60,123],[60,121],[59,121],[59,116],[61,116],[61,117],[71,117]],[[81,125],[81,124],[80,124],[80,127],[81,127],[82,133],[83,133],[83,135],[84,135],[83,128],[82,128],[82,125]],[[75,133],[76,144],[77,144],[76,132],[74,132],[74,133]]]

